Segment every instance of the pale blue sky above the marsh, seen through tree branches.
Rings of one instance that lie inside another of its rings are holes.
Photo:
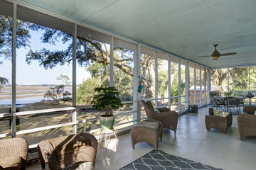
[[[33,51],[40,50],[45,47],[48,50],[61,50],[68,47],[68,42],[63,44],[61,40],[56,45],[50,45],[41,42],[42,30],[31,31],[31,49]],[[70,81],[72,80],[72,62],[64,66],[58,65],[53,69],[44,69],[39,66],[38,61],[32,61],[31,64],[26,63],[26,54],[29,51],[29,47],[22,47],[16,50],[16,84],[18,85],[31,85],[31,84],[61,84],[62,81],[56,78],[60,74],[68,75]],[[4,64],[0,64],[1,77],[9,79],[11,84],[11,61],[4,60]],[[82,81],[90,77],[90,73],[86,71],[85,67],[77,67],[77,84],[81,84]]]

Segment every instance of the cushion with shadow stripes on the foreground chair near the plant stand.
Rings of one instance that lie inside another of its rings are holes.
[[[90,147],[90,139],[79,134],[65,137],[56,137],[46,141],[53,145],[57,156],[78,152],[81,149]]]

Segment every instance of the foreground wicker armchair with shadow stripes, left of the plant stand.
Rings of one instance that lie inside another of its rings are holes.
[[[64,169],[75,162],[92,162],[95,165],[97,139],[88,132],[43,140],[38,144],[42,169]]]

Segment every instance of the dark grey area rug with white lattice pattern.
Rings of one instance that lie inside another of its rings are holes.
[[[120,170],[131,170],[131,169],[139,169],[139,170],[190,170],[190,169],[210,169],[217,170],[218,168],[214,168],[213,166],[208,166],[205,164],[201,164],[200,162],[193,162],[191,160],[177,157],[173,154],[166,154],[165,152],[155,150],[145,154],[143,157],[140,157],[136,161],[124,166]],[[221,169],[218,169],[221,170]]]

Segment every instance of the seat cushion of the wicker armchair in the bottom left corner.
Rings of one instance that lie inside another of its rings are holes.
[[[21,157],[5,157],[0,159],[0,169],[11,170],[21,169]]]

